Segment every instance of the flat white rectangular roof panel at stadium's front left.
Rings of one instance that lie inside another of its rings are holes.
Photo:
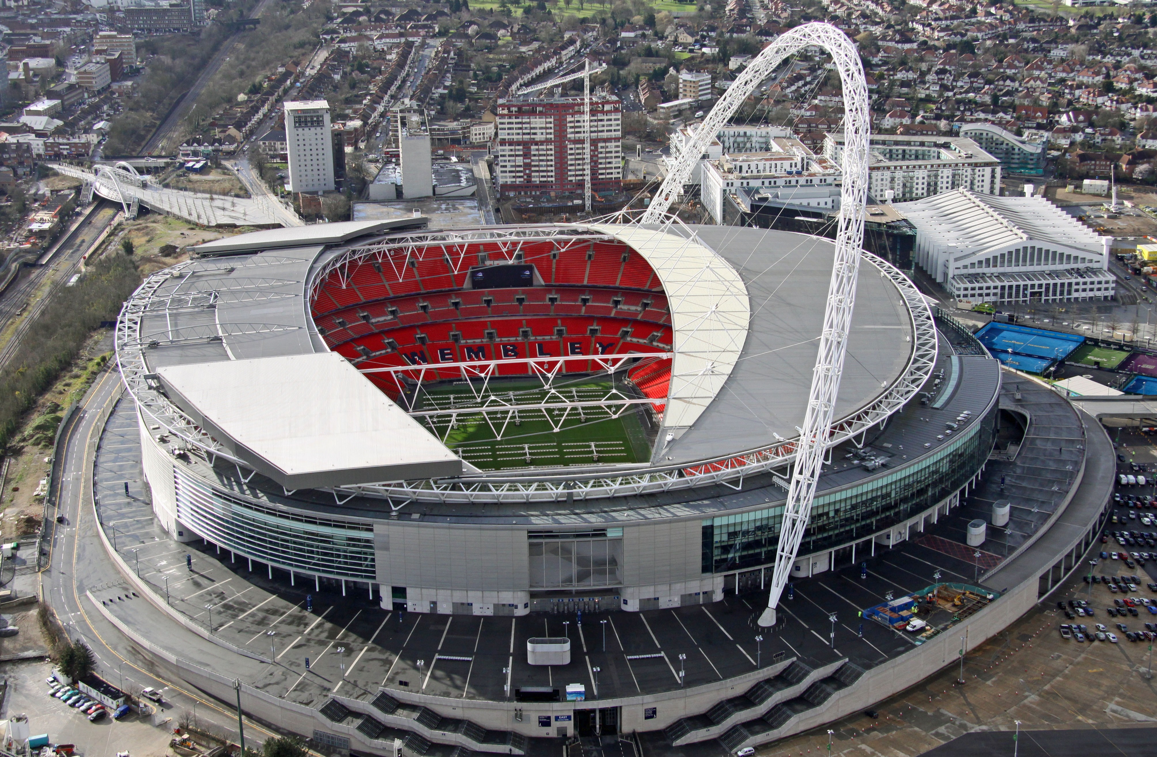
[[[156,373],[177,406],[286,488],[462,473],[452,451],[333,352]]]

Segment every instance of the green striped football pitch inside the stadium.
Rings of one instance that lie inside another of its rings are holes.
[[[613,384],[606,380],[576,378],[555,388],[563,398],[596,402],[607,396]],[[492,380],[492,395],[504,402],[525,405],[559,402],[539,382]],[[418,410],[442,410],[445,414],[426,416],[426,427],[462,458],[484,470],[592,463],[638,463],[650,457],[650,442],[635,405],[612,417],[602,407],[463,413],[451,417],[455,406],[471,406],[477,400],[462,383],[426,387]],[[495,405],[492,400],[491,405]],[[546,413],[551,413],[547,418]]]

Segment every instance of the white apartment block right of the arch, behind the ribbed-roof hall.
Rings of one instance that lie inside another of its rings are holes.
[[[966,189],[1000,194],[1001,162],[963,137],[872,134],[868,191],[880,201],[919,200]],[[843,133],[828,134],[824,155],[839,164]]]

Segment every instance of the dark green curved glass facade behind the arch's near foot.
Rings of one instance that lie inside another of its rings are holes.
[[[799,554],[839,547],[899,523],[950,497],[988,458],[996,406],[935,454],[879,478],[818,494]],[[702,523],[702,572],[723,573],[775,561],[783,505]],[[817,532],[818,531],[818,532]]]

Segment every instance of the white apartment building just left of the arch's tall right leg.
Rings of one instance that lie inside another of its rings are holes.
[[[832,161],[815,155],[795,138],[775,138],[771,147],[772,152],[727,153],[701,163],[702,200],[716,223],[723,222],[727,194],[744,188],[759,188],[767,199],[784,205],[839,208],[840,171]]]

